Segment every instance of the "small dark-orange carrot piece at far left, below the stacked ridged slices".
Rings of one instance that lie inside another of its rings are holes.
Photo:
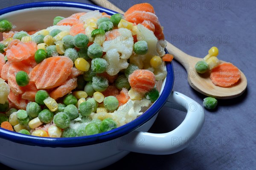
[[[21,94],[16,95],[12,91],[10,91],[8,99],[10,100],[10,102],[12,102],[13,105],[15,105],[15,108],[26,110],[28,100],[22,99]]]

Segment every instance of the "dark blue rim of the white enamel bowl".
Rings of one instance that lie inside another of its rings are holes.
[[[36,8],[36,7],[49,7],[49,6],[58,6],[58,7],[73,7],[73,8],[83,8],[89,10],[99,10],[100,12],[106,12],[107,14],[116,14],[115,11],[109,10],[107,8],[90,5],[86,3],[75,3],[68,1],[47,1],[47,2],[37,2],[37,3],[26,3],[17,6],[12,6],[8,8],[3,8],[0,10],[0,15],[6,14],[12,11],[22,10],[26,8]],[[168,53],[166,51],[166,53]],[[163,105],[166,103],[169,95],[171,94],[173,83],[174,83],[174,71],[172,62],[166,62],[166,71],[168,72],[166,76],[166,83],[163,88],[162,94],[159,96],[157,101],[154,103],[156,107],[150,107],[145,111],[141,116],[137,117],[135,120],[117,127],[116,129],[99,133],[91,136],[81,136],[81,137],[72,137],[72,138],[49,138],[49,137],[37,137],[24,135],[17,132],[12,132],[0,128],[0,138],[10,140],[12,142],[17,142],[20,144],[26,145],[35,145],[41,147],[79,147],[86,146],[91,144],[98,144],[112,139],[119,138],[124,136],[133,130],[137,129],[141,125],[145,124],[150,120],[155,114],[157,114]]]

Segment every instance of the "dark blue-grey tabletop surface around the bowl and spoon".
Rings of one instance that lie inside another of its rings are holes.
[[[186,149],[165,156],[130,153],[105,170],[256,169],[256,1],[111,1],[124,10],[128,9],[127,5],[131,7],[134,3],[151,3],[164,27],[166,40],[195,57],[204,57],[209,48],[217,46],[218,58],[232,62],[243,71],[248,85],[242,96],[218,100],[218,108],[205,110],[204,127]],[[5,2],[13,6],[35,1]],[[1,1],[1,8],[5,7]],[[182,65],[175,60],[173,65],[173,90],[202,103],[205,96],[189,86]],[[184,117],[185,113],[165,108],[160,111],[150,132],[173,130]]]

